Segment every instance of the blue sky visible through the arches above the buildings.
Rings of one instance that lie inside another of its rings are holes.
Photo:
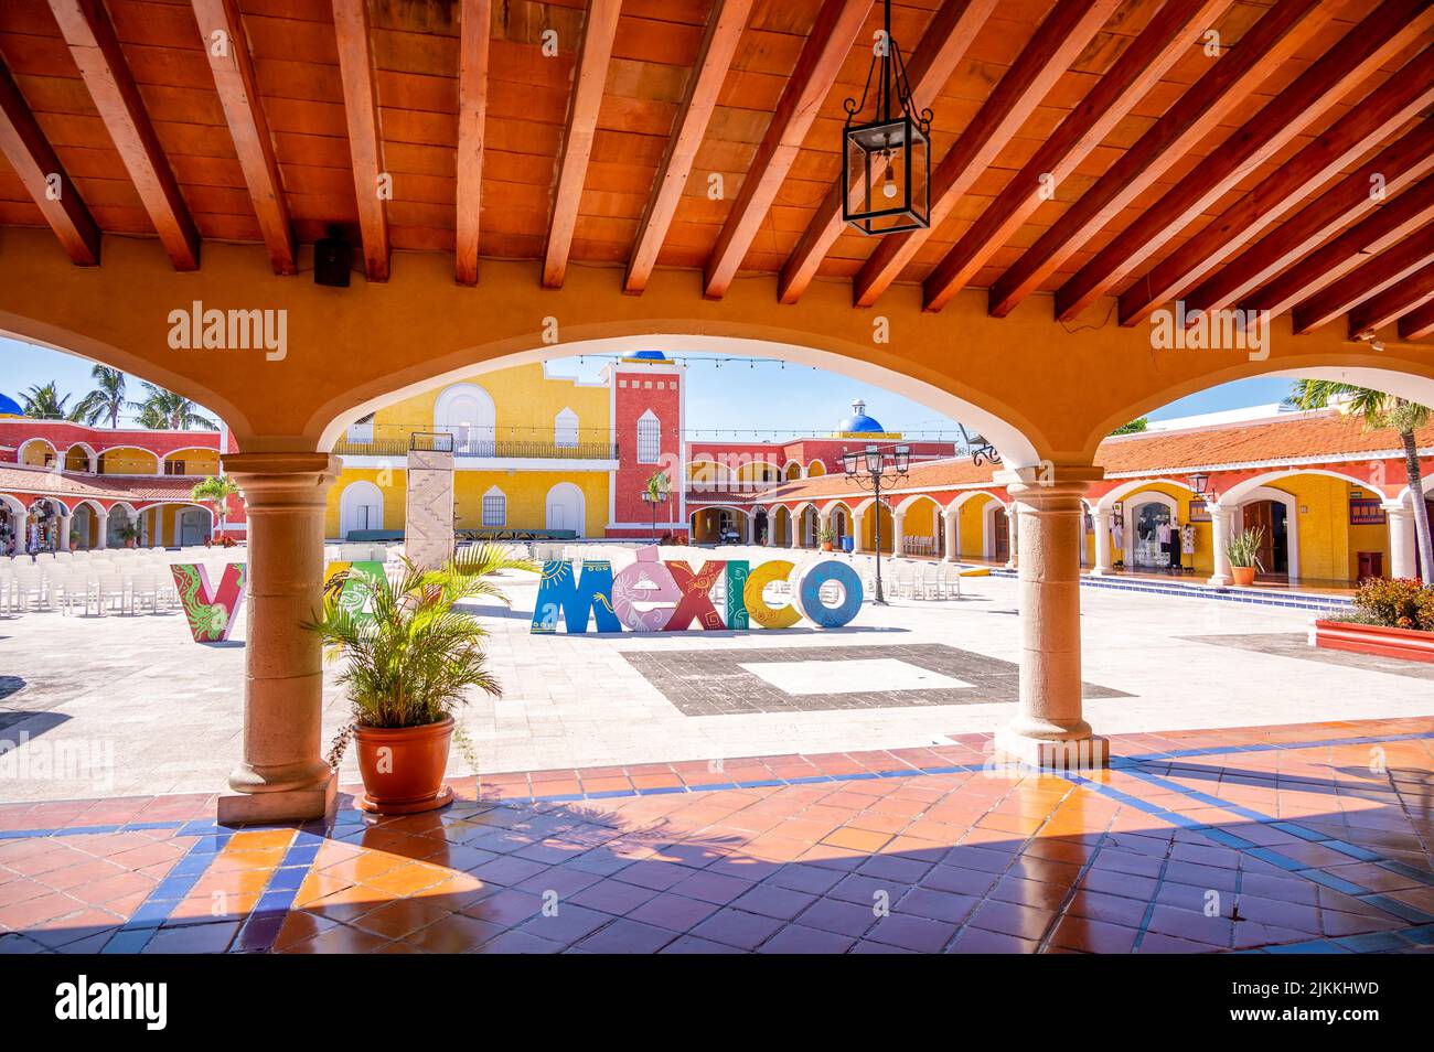
[[[955,437],[955,421],[925,406],[891,394],[879,387],[803,365],[783,367],[777,361],[717,361],[708,355],[683,355],[688,364],[687,423],[693,439],[776,439],[793,434],[823,434],[836,429],[853,398],[866,403],[869,416],[891,431],[911,437]],[[562,374],[592,377],[604,358],[588,357],[554,363]],[[90,365],[86,358],[46,347],[32,347],[0,337],[0,393],[17,398],[19,391],[54,380],[60,393],[72,393],[73,406],[90,390]],[[142,393],[130,377],[129,391]],[[1163,420],[1222,408],[1259,406],[1279,401],[1289,393],[1288,380],[1245,380],[1213,387],[1182,398],[1152,413]],[[717,431],[717,434],[714,434]],[[756,436],[753,433],[757,433]]]

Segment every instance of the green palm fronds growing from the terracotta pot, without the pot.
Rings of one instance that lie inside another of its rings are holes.
[[[459,603],[493,599],[508,605],[508,595],[492,580],[503,570],[536,572],[536,566],[500,546],[479,545],[442,569],[420,569],[403,559],[394,580],[350,569],[330,582],[323,615],[304,625],[323,641],[327,661],[346,662],[338,682],[353,718],[334,740],[330,764],[337,765],[357,724],[423,727],[467,704],[470,689],[502,692],[488,668],[488,632]],[[361,602],[343,595],[350,590]]]

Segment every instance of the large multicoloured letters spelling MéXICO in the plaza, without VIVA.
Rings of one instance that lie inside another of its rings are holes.
[[[726,609],[711,601],[711,589],[726,578]],[[787,580],[792,599],[780,606],[767,603],[767,585]],[[840,601],[827,605],[822,586],[837,583]],[[614,576],[607,559],[582,563],[581,575],[571,562],[545,562],[538,602],[533,605],[533,632],[556,632],[561,618],[568,632],[587,632],[597,621],[599,632],[681,632],[694,621],[706,631],[750,628],[792,628],[802,618],[819,628],[840,628],[862,609],[862,579],[856,570],[835,559],[797,568],[786,559],[757,566],[747,562],[708,559],[700,570],[685,562],[663,562],[657,547],[644,547],[637,562]]]

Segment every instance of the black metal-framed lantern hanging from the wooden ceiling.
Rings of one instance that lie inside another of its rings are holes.
[[[932,115],[912,105],[906,63],[892,39],[891,0],[883,24],[860,102],[842,103],[842,218],[869,235],[931,225]]]

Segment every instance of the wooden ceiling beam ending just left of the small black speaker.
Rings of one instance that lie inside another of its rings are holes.
[[[244,183],[250,188],[254,218],[258,219],[268,248],[270,264],[275,274],[298,274],[288,199],[284,196],[278,161],[274,159],[274,140],[260,105],[254,60],[239,21],[238,3],[192,0],[192,4],[204,52],[209,57],[209,70],[214,73],[214,87],[224,106],[224,119],[229,125]]]

